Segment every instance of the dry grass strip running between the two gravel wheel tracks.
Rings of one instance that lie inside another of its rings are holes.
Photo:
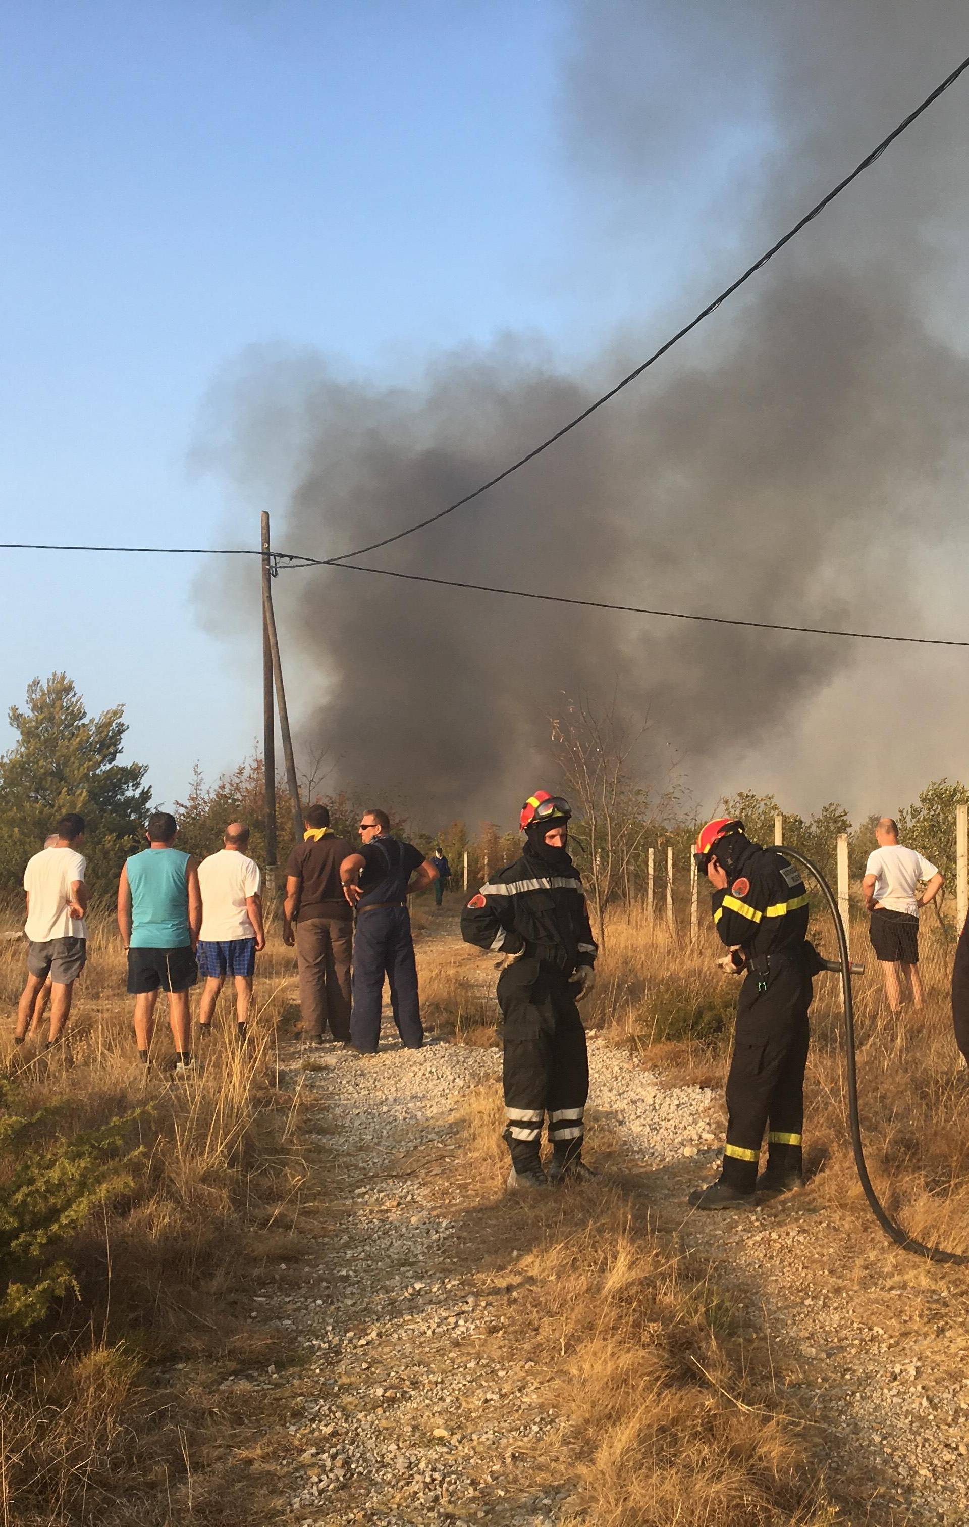
[[[501,1119],[496,1087],[473,1093],[462,1110],[478,1183],[504,1174]],[[560,1458],[542,1464],[578,1477],[566,1521],[844,1519],[812,1457],[813,1429],[781,1400],[765,1342],[740,1330],[699,1258],[653,1232],[636,1191],[555,1193],[511,1212],[497,1205],[493,1248],[502,1237],[533,1243],[516,1266],[528,1287],[520,1330],[505,1330],[505,1341],[528,1344],[528,1356],[554,1374]]]

